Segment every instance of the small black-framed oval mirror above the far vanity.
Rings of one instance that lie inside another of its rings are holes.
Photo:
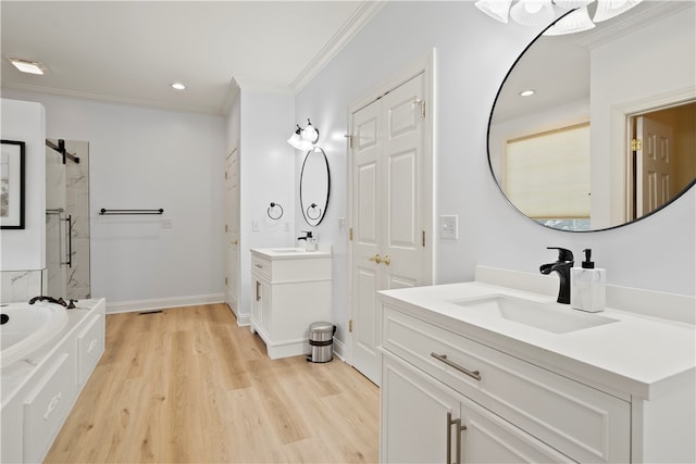
[[[304,155],[300,174],[300,208],[304,222],[310,226],[319,225],[328,206],[331,173],[326,153],[314,147]]]

